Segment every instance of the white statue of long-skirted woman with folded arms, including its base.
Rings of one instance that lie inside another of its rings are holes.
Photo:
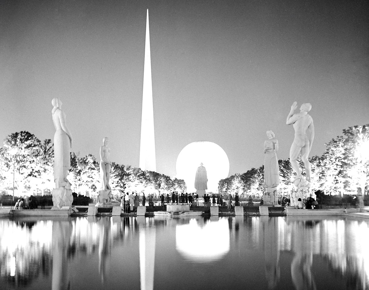
[[[277,186],[279,185],[279,167],[276,152],[278,151],[278,140],[275,139],[275,134],[268,130],[266,131],[268,140],[264,141],[264,184],[266,191],[270,195],[270,202],[278,203]]]

